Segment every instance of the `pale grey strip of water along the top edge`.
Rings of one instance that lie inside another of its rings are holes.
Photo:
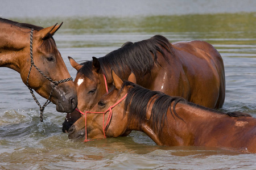
[[[34,0],[2,1],[0,16],[13,17],[70,17],[70,16],[148,16],[181,14],[216,14],[226,12],[255,12],[256,1],[251,0]]]

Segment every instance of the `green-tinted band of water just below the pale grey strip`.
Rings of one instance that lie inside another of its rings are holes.
[[[14,18],[15,19],[15,18]],[[230,38],[229,33],[242,34],[239,37],[255,38],[256,13],[238,14],[191,14],[173,16],[138,16],[131,18],[104,18],[104,17],[72,17],[72,18],[29,18],[15,19],[18,22],[34,23],[43,27],[51,26],[56,22],[64,22],[60,31],[82,33],[163,33],[163,32],[219,32],[213,38]],[[74,32],[75,30],[75,32]],[[228,33],[229,32],[229,33]],[[205,35],[205,36],[206,36]],[[195,35],[196,36],[196,35]],[[239,38],[236,37],[236,38]],[[196,36],[195,38],[201,38]]]

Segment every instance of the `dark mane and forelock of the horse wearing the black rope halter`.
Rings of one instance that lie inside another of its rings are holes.
[[[0,22],[15,25],[20,28],[28,28],[28,29],[33,28],[36,31],[40,31],[41,29],[43,29],[43,27],[39,27],[37,25],[27,24],[27,23],[18,23],[18,22],[14,22],[12,20],[3,19],[3,18],[0,18]],[[44,39],[41,47],[44,47],[48,52],[51,52],[53,50],[53,46],[56,46],[56,42],[53,39],[52,35],[48,33],[48,36]]]

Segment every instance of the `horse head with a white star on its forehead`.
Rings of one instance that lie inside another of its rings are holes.
[[[77,91],[77,100],[79,101],[77,108],[80,111],[90,111],[97,103],[98,99],[106,93],[108,87],[105,85],[104,74],[102,74],[100,62],[96,57],[93,61],[88,61],[80,65],[72,57],[68,57],[71,66],[77,70],[76,79],[74,84]],[[77,111],[68,113],[63,123],[63,132],[75,123],[81,114]]]

